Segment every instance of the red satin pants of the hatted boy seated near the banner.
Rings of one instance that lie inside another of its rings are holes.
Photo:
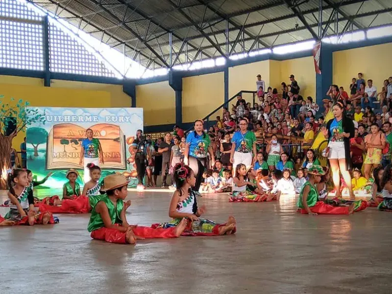
[[[49,211],[51,213],[88,213],[91,209],[89,197],[87,196],[73,196],[72,199],[63,199],[61,206],[53,206],[54,199],[58,196],[49,197],[50,199],[43,199],[42,201],[34,204],[38,206],[41,212]]]

